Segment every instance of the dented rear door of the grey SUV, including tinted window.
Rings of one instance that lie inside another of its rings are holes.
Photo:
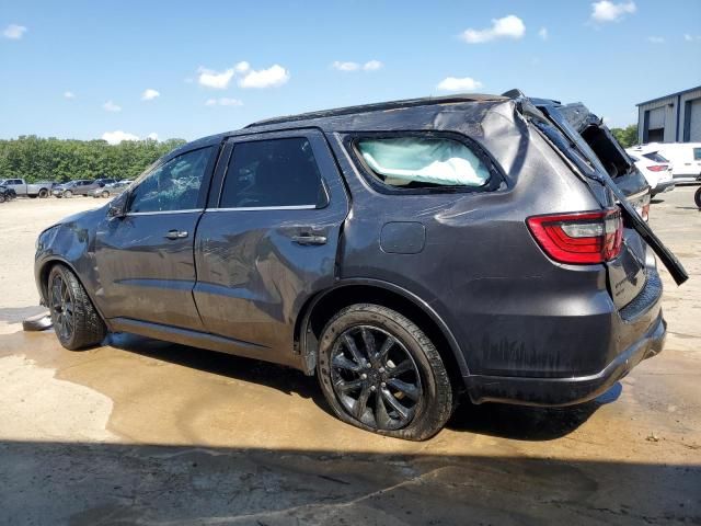
[[[197,308],[210,333],[285,362],[302,305],[334,283],[345,187],[319,130],[237,137],[225,155],[197,228]]]

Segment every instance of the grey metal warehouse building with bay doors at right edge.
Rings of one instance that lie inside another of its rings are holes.
[[[701,85],[637,104],[637,141],[700,142]]]

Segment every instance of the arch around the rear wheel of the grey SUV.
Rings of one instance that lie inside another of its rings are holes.
[[[397,310],[416,323],[434,342],[456,388],[469,375],[460,346],[446,322],[422,298],[389,282],[350,278],[313,296],[302,307],[295,327],[295,341],[302,357],[302,368],[312,375],[317,366],[319,335],[325,323],[342,308],[371,302]]]

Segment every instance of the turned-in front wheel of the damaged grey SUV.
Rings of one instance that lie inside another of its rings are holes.
[[[104,340],[106,327],[70,270],[54,266],[46,289],[54,331],[64,347],[77,351]]]

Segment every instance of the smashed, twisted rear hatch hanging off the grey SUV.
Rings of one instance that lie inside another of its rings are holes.
[[[623,214],[625,228],[621,253],[606,263],[616,306],[625,307],[645,287],[647,247],[657,254],[677,284],[688,279],[679,261],[641,217],[643,206],[650,199],[647,182],[600,119],[582,104],[563,106],[555,101],[528,99],[522,94],[515,99],[521,114],[574,164],[600,205],[611,208],[618,203]]]

